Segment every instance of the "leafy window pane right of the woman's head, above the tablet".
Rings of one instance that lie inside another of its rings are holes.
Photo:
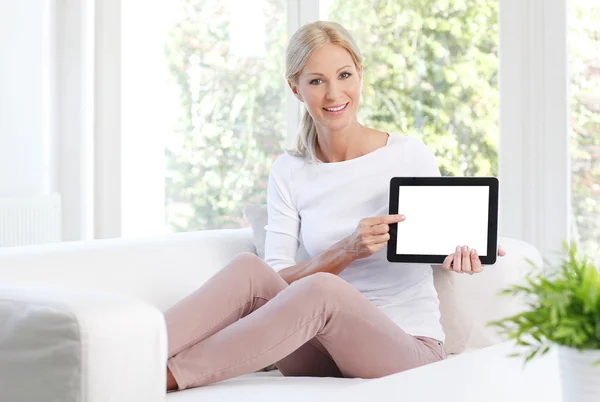
[[[423,139],[442,174],[498,173],[498,2],[322,0],[364,56],[360,121]]]

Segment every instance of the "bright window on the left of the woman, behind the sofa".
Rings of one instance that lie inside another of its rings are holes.
[[[123,235],[148,215],[166,231],[244,226],[286,134],[287,1],[122,5]]]

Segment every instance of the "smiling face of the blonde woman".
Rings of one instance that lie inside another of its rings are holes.
[[[361,79],[362,66],[356,68],[350,53],[326,44],[310,56],[298,82],[288,84],[318,127],[336,131],[356,122]]]

